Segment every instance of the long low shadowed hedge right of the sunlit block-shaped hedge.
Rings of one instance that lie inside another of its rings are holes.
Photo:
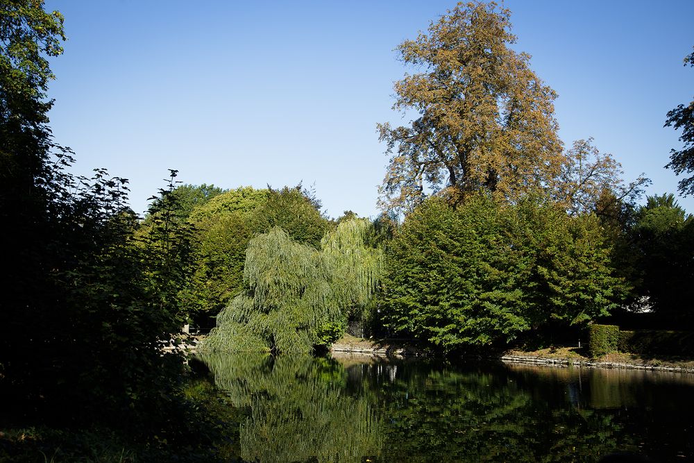
[[[694,356],[694,332],[638,330],[620,331],[618,348],[640,355]]]

